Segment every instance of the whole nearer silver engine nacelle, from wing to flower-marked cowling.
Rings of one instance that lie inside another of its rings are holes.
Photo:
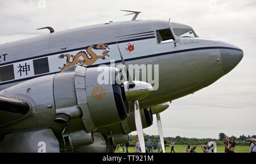
[[[105,78],[111,83],[98,83],[98,76],[102,72],[108,72]],[[20,98],[30,104],[29,115],[33,116],[19,119],[17,130],[38,126],[57,129],[57,122],[84,124],[79,128],[85,127],[87,132],[92,132],[99,127],[121,122],[129,115],[124,89],[115,84],[117,74],[118,69],[113,67],[101,67],[98,70],[97,67],[77,66],[75,71],[24,81],[1,90],[0,94]],[[69,126],[69,130],[81,129]]]

